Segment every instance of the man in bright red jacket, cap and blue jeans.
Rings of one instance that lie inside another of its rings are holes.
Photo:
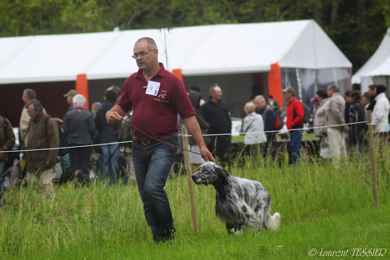
[[[290,163],[295,164],[301,156],[304,110],[302,103],[295,97],[295,90],[293,88],[285,88],[282,92],[287,103],[286,126],[290,133]]]

